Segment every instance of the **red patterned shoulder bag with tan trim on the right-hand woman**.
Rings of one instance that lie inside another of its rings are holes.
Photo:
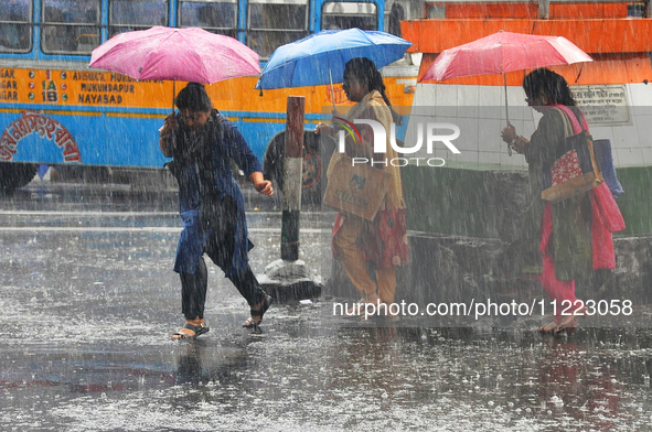
[[[570,126],[575,134],[566,137],[559,143],[555,162],[542,168],[541,197],[551,203],[579,195],[605,181],[584,115],[580,126],[570,108],[563,105],[555,105],[554,108],[564,114],[567,129]]]

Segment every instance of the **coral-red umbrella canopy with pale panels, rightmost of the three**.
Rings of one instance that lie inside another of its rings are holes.
[[[588,54],[566,37],[500,31],[442,51],[419,82],[505,74],[513,71],[592,61]]]

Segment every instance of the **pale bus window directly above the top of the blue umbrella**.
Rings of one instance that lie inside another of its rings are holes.
[[[341,30],[359,28],[377,30],[378,12],[374,3],[343,3],[332,1],[323,4],[321,28],[323,30]]]

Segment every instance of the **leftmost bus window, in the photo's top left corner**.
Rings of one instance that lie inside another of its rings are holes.
[[[0,52],[26,53],[32,48],[32,0],[0,3]]]

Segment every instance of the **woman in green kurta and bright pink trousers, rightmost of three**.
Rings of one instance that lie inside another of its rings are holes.
[[[624,229],[624,222],[607,183],[556,203],[542,199],[543,166],[551,166],[565,138],[575,134],[563,106],[580,125],[586,120],[566,79],[552,71],[530,73],[523,89],[527,105],[543,117],[530,140],[517,136],[512,125],[503,129],[502,139],[524,154],[528,164],[533,201],[523,225],[527,240],[520,257],[523,266],[538,270],[539,283],[556,301],[554,321],[539,331],[557,333],[574,328],[577,316],[590,313],[575,296],[575,283],[588,283],[595,270],[616,268],[612,233]]]

